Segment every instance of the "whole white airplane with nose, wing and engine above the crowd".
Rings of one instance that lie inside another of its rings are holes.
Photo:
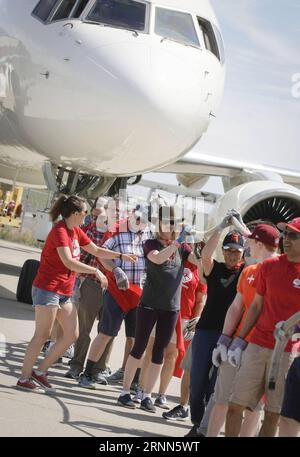
[[[224,77],[209,0],[0,0],[0,176],[94,198],[150,170],[218,175],[217,217],[300,215],[300,170],[199,152]]]

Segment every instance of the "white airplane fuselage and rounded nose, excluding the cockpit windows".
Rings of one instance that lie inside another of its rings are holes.
[[[225,70],[200,33],[197,18],[217,27],[208,1],[139,2],[144,30],[91,21],[94,3],[79,18],[42,22],[32,14],[38,0],[1,1],[0,161],[8,167],[48,159],[89,174],[141,174],[189,151],[215,115]],[[199,44],[157,33],[158,8],[186,13]]]

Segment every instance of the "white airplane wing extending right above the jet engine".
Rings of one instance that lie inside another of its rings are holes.
[[[221,176],[233,180],[235,178],[244,178],[245,180],[266,179],[284,181],[296,187],[300,186],[300,171],[242,160],[232,160],[199,151],[189,152],[177,162],[161,168],[159,172]]]

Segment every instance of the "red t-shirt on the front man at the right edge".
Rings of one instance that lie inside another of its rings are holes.
[[[255,287],[264,297],[264,304],[250,341],[274,349],[273,332],[277,322],[300,311],[300,263],[289,262],[285,254],[265,260]],[[291,349],[289,341],[285,351]]]

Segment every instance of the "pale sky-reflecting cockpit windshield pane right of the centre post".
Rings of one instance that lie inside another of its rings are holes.
[[[182,44],[200,46],[193,18],[189,13],[156,7],[155,33]]]

